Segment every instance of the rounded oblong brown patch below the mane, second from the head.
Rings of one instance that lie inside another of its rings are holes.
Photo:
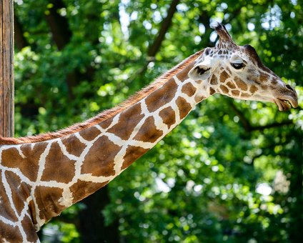
[[[177,84],[174,80],[169,80],[161,88],[149,94],[146,97],[145,103],[149,112],[156,111],[164,104],[169,103],[174,98],[177,91]]]

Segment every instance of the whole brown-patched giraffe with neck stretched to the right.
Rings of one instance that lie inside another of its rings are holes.
[[[0,138],[1,242],[39,242],[52,217],[104,187],[215,93],[297,107],[296,91],[237,46],[222,24],[217,45],[182,61],[121,106],[59,132]]]

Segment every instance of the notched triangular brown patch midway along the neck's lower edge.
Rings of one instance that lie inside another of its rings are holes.
[[[154,124],[154,117],[149,116],[139,129],[139,132],[136,134],[134,139],[144,142],[156,142],[162,134],[163,132],[158,130]]]

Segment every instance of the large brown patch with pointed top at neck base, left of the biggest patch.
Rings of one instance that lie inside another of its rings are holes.
[[[75,161],[70,160],[62,152],[59,144],[53,142],[49,154],[45,159],[44,172],[41,180],[45,182],[56,181],[56,182],[71,182],[74,177]]]

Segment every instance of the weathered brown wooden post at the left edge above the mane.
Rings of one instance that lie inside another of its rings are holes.
[[[14,0],[0,0],[0,136],[14,137]]]

